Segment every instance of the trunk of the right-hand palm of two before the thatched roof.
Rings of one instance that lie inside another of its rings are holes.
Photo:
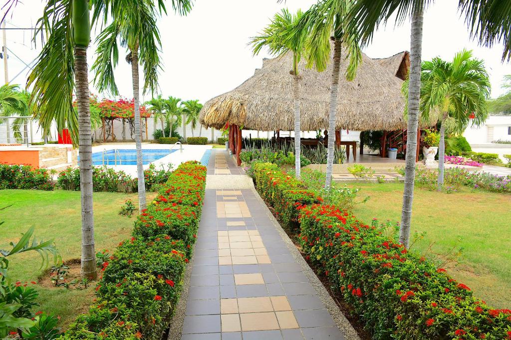
[[[328,151],[327,151],[327,180],[324,187],[330,188],[334,168],[335,118],[337,113],[337,95],[339,93],[339,69],[341,65],[341,40],[334,40],[334,69],[332,70],[332,85],[330,87],[330,109],[328,114]]]

